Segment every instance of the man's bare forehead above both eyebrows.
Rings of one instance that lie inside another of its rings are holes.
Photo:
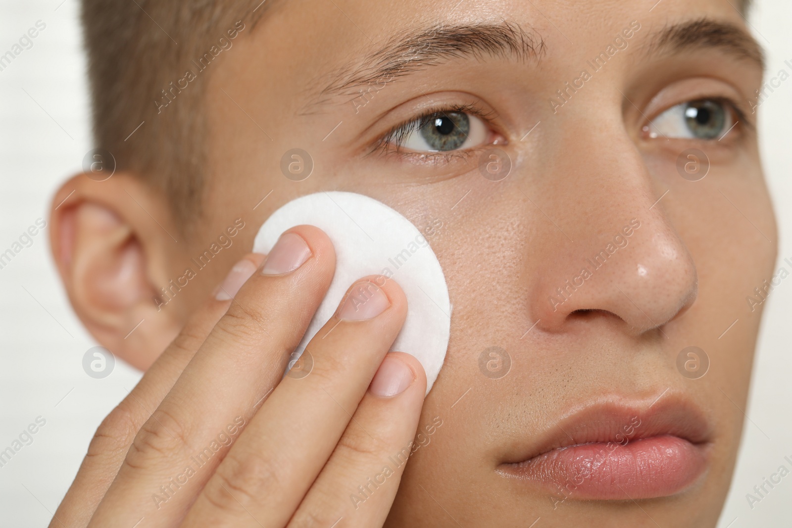
[[[314,67],[374,51],[421,29],[482,22],[518,25],[548,44],[550,58],[572,58],[638,21],[643,26],[710,17],[743,25],[737,0],[293,0],[265,12],[257,35],[282,44],[292,62]],[[268,40],[268,39],[267,39]],[[552,46],[550,46],[552,44]],[[320,68],[321,69],[321,68]]]

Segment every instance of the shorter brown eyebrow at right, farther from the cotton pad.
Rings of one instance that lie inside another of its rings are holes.
[[[735,59],[747,59],[764,71],[762,47],[743,28],[702,17],[668,26],[646,44],[645,55],[676,55],[684,51],[716,49]]]

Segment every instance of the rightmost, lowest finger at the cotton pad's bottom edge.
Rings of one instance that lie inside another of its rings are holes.
[[[425,393],[426,376],[417,359],[403,352],[386,355],[288,526],[383,526],[407,459],[421,445],[413,438]]]

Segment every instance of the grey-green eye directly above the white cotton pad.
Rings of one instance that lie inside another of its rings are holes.
[[[432,112],[391,131],[385,142],[399,150],[447,152],[481,145],[489,136],[484,121],[470,112]]]

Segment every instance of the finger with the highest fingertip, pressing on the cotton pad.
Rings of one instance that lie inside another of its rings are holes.
[[[322,230],[297,226],[280,237],[135,435],[90,526],[133,526],[142,517],[168,526],[184,517],[280,381],[334,270]]]

